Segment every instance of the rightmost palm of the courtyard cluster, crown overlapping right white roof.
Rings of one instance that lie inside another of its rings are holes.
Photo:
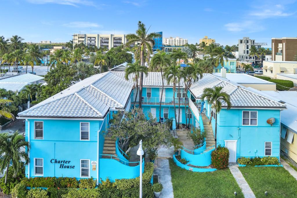
[[[185,115],[186,115],[186,126],[190,125],[190,119],[189,119],[189,125],[187,125],[187,93],[189,91],[189,88],[191,88],[192,83],[195,83],[199,79],[203,77],[203,69],[201,69],[200,65],[198,63],[190,63],[188,67],[185,69],[185,75],[184,75],[184,84],[186,89],[186,95],[184,97],[185,100]]]

